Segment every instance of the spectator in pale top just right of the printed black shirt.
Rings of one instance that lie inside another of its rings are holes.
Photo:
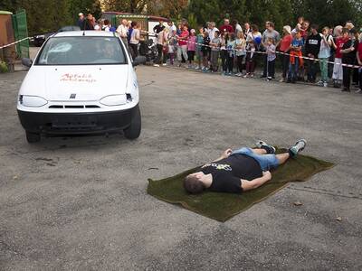
[[[321,79],[318,82],[319,86],[327,87],[328,84],[328,62],[330,57],[330,47],[332,46],[333,38],[329,35],[329,27],[324,27],[321,33],[322,40],[320,41],[320,49],[318,54]]]

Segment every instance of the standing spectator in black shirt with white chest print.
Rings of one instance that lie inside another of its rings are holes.
[[[317,75],[317,69],[318,69],[318,62],[316,61],[318,59],[319,49],[320,49],[320,41],[321,36],[318,33],[318,25],[312,24],[311,25],[311,33],[307,37],[306,43],[305,43],[305,51],[307,57],[313,59],[308,60],[308,81],[315,83],[316,82],[316,75]]]

